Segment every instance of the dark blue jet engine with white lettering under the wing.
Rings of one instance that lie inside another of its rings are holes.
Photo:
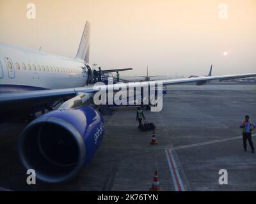
[[[90,106],[54,110],[33,120],[19,137],[26,169],[44,182],[72,179],[90,163],[104,135],[102,115]]]

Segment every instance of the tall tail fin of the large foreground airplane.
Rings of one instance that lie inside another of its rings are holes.
[[[91,24],[86,21],[75,59],[89,62]]]

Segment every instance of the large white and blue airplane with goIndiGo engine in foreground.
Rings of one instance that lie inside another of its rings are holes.
[[[93,104],[99,90],[184,84],[256,77],[256,73],[150,82],[86,86],[90,80],[90,23],[86,22],[74,59],[38,50],[0,44],[0,115],[35,113],[56,101],[62,105],[32,120],[18,140],[24,168],[36,178],[56,183],[70,180],[92,161],[104,136],[104,119]]]

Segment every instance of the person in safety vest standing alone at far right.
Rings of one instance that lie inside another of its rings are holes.
[[[240,128],[243,132],[243,143],[244,143],[244,152],[246,152],[246,142],[249,141],[252,153],[254,153],[254,147],[252,142],[252,131],[255,129],[255,124],[252,121],[249,121],[249,115],[245,116]]]

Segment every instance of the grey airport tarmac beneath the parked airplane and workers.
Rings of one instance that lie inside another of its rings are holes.
[[[144,110],[156,124],[141,132],[135,108],[105,115],[106,132],[92,162],[73,180],[26,184],[17,138],[26,124],[0,124],[0,187],[12,191],[148,191],[158,170],[163,191],[255,191],[256,154],[243,151],[239,125],[256,122],[256,84],[172,85],[163,110]],[[255,134],[253,142],[256,145]],[[219,184],[227,170],[228,184]]]

